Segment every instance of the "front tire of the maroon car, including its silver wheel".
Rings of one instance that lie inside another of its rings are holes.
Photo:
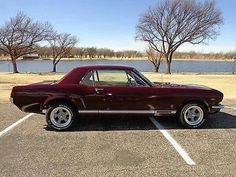
[[[199,128],[206,120],[208,111],[204,105],[189,103],[182,107],[178,114],[179,122],[186,128]]]

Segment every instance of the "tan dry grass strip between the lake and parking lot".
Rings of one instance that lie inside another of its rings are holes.
[[[58,80],[64,74],[11,74],[0,73],[0,102],[8,102],[13,86],[41,82],[45,80]],[[196,75],[196,74],[157,74],[144,73],[154,82],[173,82],[206,85],[222,91],[225,99],[236,100],[235,75]]]

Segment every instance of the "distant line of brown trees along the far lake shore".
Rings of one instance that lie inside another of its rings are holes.
[[[35,55],[23,56],[22,59],[50,59],[53,56],[52,50],[49,46],[37,46],[35,49]],[[158,55],[156,55],[158,56]],[[0,50],[0,58],[6,59],[9,55]],[[69,53],[64,55],[64,58],[74,58],[74,59],[136,59],[136,58],[148,58],[150,59],[153,56],[153,53],[150,52],[150,49],[145,52],[136,51],[136,50],[123,50],[123,51],[114,51],[108,48],[96,48],[96,47],[73,47]],[[155,57],[154,57],[155,58]],[[203,60],[213,60],[213,59],[235,59],[236,51],[232,52],[218,52],[218,53],[200,53],[195,51],[190,52],[179,52],[176,51],[173,55],[174,59],[203,59]],[[158,58],[157,58],[157,60]]]

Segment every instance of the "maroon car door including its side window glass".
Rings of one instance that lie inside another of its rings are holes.
[[[127,70],[97,70],[95,91],[100,95],[100,112],[132,113],[156,109],[156,92],[137,74]],[[140,83],[138,83],[138,82]]]

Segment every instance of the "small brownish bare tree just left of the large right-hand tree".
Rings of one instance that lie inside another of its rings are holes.
[[[161,65],[161,60],[162,60],[162,57],[163,57],[163,53],[157,52],[157,51],[153,50],[151,47],[149,47],[146,50],[146,55],[148,57],[148,60],[155,67],[155,71],[158,72],[159,68],[160,68],[160,65]]]

